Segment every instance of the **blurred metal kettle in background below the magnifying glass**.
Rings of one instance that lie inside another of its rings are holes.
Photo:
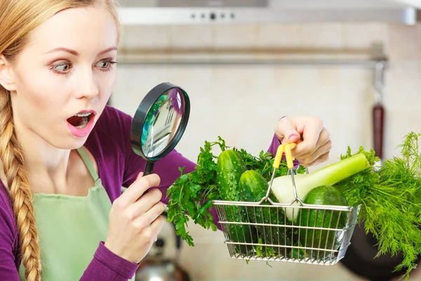
[[[166,216],[166,212],[163,212]],[[190,281],[187,271],[178,263],[181,238],[175,233],[173,223],[166,221],[152,245],[151,250],[140,261],[135,281]]]

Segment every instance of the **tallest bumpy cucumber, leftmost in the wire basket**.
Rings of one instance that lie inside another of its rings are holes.
[[[220,190],[220,197],[223,201],[241,201],[239,194],[239,180],[241,174],[246,171],[246,164],[234,150],[224,150],[218,156],[217,181]],[[226,206],[225,214],[227,221],[247,222],[245,207]],[[256,230],[248,225],[229,223],[229,240],[232,242],[251,243],[255,240]],[[249,245],[234,244],[237,254],[248,255],[253,247]]]

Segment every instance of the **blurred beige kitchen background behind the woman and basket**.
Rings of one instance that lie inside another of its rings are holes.
[[[216,141],[218,136],[258,155],[267,150],[274,126],[284,115],[323,119],[333,141],[325,164],[337,161],[347,146],[376,147],[382,157],[392,157],[399,153],[396,145],[406,133],[421,132],[419,0],[119,3],[118,81],[109,103],[133,116],[156,84],[181,86],[189,94],[191,112],[176,149],[192,161],[204,141]],[[373,115],[381,108],[384,122]],[[373,125],[375,120],[378,126]],[[166,225],[161,249],[154,247],[151,255],[163,250],[163,256],[175,258],[192,281],[370,280],[342,263],[247,264],[229,257],[221,232],[194,223],[189,231],[195,247],[182,242],[178,252],[174,230]],[[359,249],[371,249],[370,241],[361,242],[370,237],[357,230],[355,237],[360,239]],[[365,260],[367,253],[360,254],[352,259],[372,262]],[[383,271],[390,270],[389,263],[385,258],[360,271],[382,266]],[[410,280],[421,280],[421,273]]]

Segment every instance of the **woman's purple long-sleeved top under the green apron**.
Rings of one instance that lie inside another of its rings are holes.
[[[131,185],[145,167],[145,160],[131,148],[131,122],[130,115],[107,106],[85,143],[98,164],[98,175],[112,202],[121,194],[121,186]],[[274,136],[269,152],[276,152],[278,145],[279,141]],[[165,198],[167,188],[180,176],[180,166],[185,166],[185,172],[189,172],[196,164],[173,150],[154,165],[154,173],[161,177],[159,189],[164,195],[164,203],[168,203]],[[212,214],[218,226],[215,209]],[[98,249],[81,280],[126,281],[133,277],[138,264],[112,253],[104,246],[104,242],[98,243]],[[20,244],[12,202],[0,181],[0,280],[18,281],[20,262]]]

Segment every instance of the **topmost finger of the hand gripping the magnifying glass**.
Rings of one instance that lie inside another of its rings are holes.
[[[132,185],[114,201],[114,204],[128,206],[132,204],[145,193],[145,191],[154,186],[159,186],[161,178],[157,174],[149,174],[139,177]],[[148,192],[149,193],[149,192]],[[117,202],[116,202],[117,201]]]

